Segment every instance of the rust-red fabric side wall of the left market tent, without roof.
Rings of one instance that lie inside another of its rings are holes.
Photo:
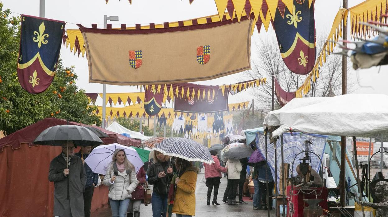
[[[48,179],[49,165],[59,153],[60,147],[24,144],[0,152],[0,216],[53,216],[54,182]],[[107,202],[107,187],[96,187],[91,211]]]

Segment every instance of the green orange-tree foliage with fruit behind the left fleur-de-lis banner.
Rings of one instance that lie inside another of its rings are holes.
[[[85,91],[78,91],[75,85],[74,66],[65,68],[61,59],[54,81],[45,92],[29,94],[22,89],[16,71],[20,17],[9,17],[10,11],[2,11],[2,6],[0,2],[0,130],[9,135],[50,116],[99,125],[100,118],[92,114],[97,107],[90,106]]]

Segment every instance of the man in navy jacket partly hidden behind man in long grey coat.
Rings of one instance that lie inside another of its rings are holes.
[[[90,217],[94,186],[96,186],[98,182],[98,174],[94,173],[85,163],[85,158],[88,157],[90,151],[92,151],[92,146],[83,146],[81,147],[81,151],[75,154],[75,156],[81,158],[86,173],[86,185],[85,191],[83,192],[83,209],[85,211],[85,217]]]

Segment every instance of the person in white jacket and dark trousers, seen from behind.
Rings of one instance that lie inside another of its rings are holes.
[[[237,205],[236,194],[237,186],[239,184],[240,172],[242,170],[242,165],[239,159],[228,159],[225,167],[228,168],[228,205]]]

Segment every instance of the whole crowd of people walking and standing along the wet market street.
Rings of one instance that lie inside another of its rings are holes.
[[[69,141],[62,144],[62,152],[50,163],[49,181],[54,182],[54,216],[80,217],[90,216],[94,187],[99,181],[84,159],[91,146],[81,147],[74,154],[75,146]],[[274,181],[266,161],[248,163],[248,158],[229,159],[225,163],[211,151],[214,163],[203,164],[206,179],[206,204],[220,205],[217,202],[218,189],[222,173],[227,175],[227,187],[222,201],[227,205],[246,204],[243,198],[243,186],[247,178],[247,167],[253,167],[254,183],[253,209],[272,209],[272,200],[266,198],[267,183],[272,192]],[[113,217],[139,217],[140,205],[144,203],[144,184],[153,186],[151,206],[153,217],[190,217],[196,210],[196,182],[202,163],[192,163],[182,158],[171,158],[158,151],[153,152],[152,163],[146,163],[139,171],[126,158],[123,149],[116,149],[112,161],[107,166],[102,184],[108,186],[109,204]],[[146,169],[144,169],[146,168]],[[146,171],[147,170],[147,171]],[[239,201],[236,201],[238,190]],[[213,193],[213,200],[211,195]],[[269,194],[271,196],[271,194]],[[269,198],[268,198],[269,199]],[[82,206],[83,204],[83,206]]]

